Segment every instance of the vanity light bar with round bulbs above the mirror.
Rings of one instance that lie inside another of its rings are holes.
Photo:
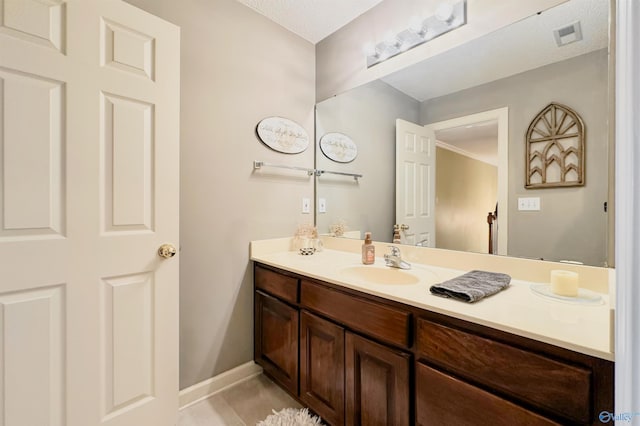
[[[382,41],[367,43],[363,49],[367,58],[367,68],[466,24],[467,0],[456,3],[452,1],[442,2],[435,14],[426,19],[411,18],[406,30],[397,34],[389,31],[385,33]]]

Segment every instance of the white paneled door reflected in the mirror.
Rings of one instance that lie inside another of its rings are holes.
[[[396,223],[402,244],[435,247],[435,154],[433,130],[396,120]]]

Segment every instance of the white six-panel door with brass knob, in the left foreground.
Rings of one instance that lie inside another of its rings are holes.
[[[174,425],[179,30],[0,0],[0,426]]]

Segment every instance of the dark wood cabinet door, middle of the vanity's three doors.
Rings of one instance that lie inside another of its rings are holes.
[[[304,310],[300,399],[328,423],[344,424],[344,329]]]

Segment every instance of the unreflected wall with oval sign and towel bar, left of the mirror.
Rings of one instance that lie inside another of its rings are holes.
[[[249,241],[293,235],[313,179],[314,46],[235,0],[128,0],[181,27],[180,387],[253,359]],[[256,139],[267,116],[302,124],[307,151]]]

